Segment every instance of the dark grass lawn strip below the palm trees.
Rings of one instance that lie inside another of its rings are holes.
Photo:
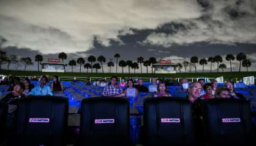
[[[197,77],[211,77],[216,78],[223,76],[225,80],[228,78],[242,78],[242,77],[249,77],[249,76],[256,76],[256,72],[213,72],[213,73],[177,73],[177,74],[115,74],[115,73],[85,73],[85,72],[38,72],[38,71],[7,71],[7,70],[0,70],[0,74],[12,74],[18,76],[40,76],[49,74],[51,75],[58,75],[59,77],[111,77],[112,75],[116,75],[117,77],[157,77],[157,78],[197,78]]]

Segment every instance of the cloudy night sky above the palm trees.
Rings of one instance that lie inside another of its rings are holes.
[[[45,60],[119,53],[178,63],[244,52],[256,67],[255,30],[255,0],[0,0],[2,49]]]

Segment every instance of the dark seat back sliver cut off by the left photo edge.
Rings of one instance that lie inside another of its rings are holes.
[[[7,111],[7,104],[0,102],[0,144],[4,141],[4,137],[6,136]]]

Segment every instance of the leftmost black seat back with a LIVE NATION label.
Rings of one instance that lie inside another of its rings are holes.
[[[34,96],[18,103],[18,145],[63,145],[67,130],[68,100]]]

